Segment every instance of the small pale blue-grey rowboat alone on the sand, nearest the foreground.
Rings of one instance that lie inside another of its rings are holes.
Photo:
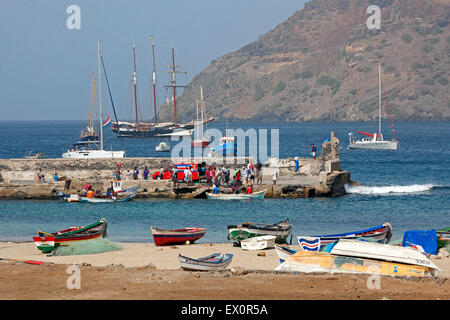
[[[233,259],[231,253],[213,253],[203,258],[189,258],[178,254],[180,259],[181,268],[184,270],[193,271],[211,271],[218,269],[225,269]]]

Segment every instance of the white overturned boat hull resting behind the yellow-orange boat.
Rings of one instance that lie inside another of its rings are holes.
[[[390,244],[358,240],[339,240],[333,246],[330,253],[339,256],[399,262],[440,270],[421,251]]]

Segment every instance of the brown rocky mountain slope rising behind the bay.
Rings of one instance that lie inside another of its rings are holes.
[[[381,29],[367,27],[370,5]],[[381,63],[394,119],[449,120],[449,57],[449,0],[312,0],[212,61],[177,99],[177,116],[192,120],[203,86],[207,115],[222,120],[374,120]]]

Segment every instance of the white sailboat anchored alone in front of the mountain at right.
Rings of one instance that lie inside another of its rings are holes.
[[[383,134],[381,133],[381,66],[378,64],[378,133],[367,133],[358,131],[358,133],[367,136],[368,138],[362,138],[357,140],[353,137],[353,134],[350,132],[349,140],[350,144],[348,146],[349,149],[367,149],[367,150],[397,150],[398,141],[397,139],[392,139],[392,141],[384,140]],[[390,116],[390,112],[389,112]],[[392,118],[391,118],[392,124]],[[395,137],[394,125],[392,124],[392,131]]]

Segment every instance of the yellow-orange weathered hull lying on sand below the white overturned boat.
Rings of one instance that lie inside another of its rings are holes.
[[[436,275],[435,269],[425,266],[361,257],[346,257],[320,251],[297,251],[285,262],[276,267],[275,270],[305,273],[380,274],[408,277]]]

